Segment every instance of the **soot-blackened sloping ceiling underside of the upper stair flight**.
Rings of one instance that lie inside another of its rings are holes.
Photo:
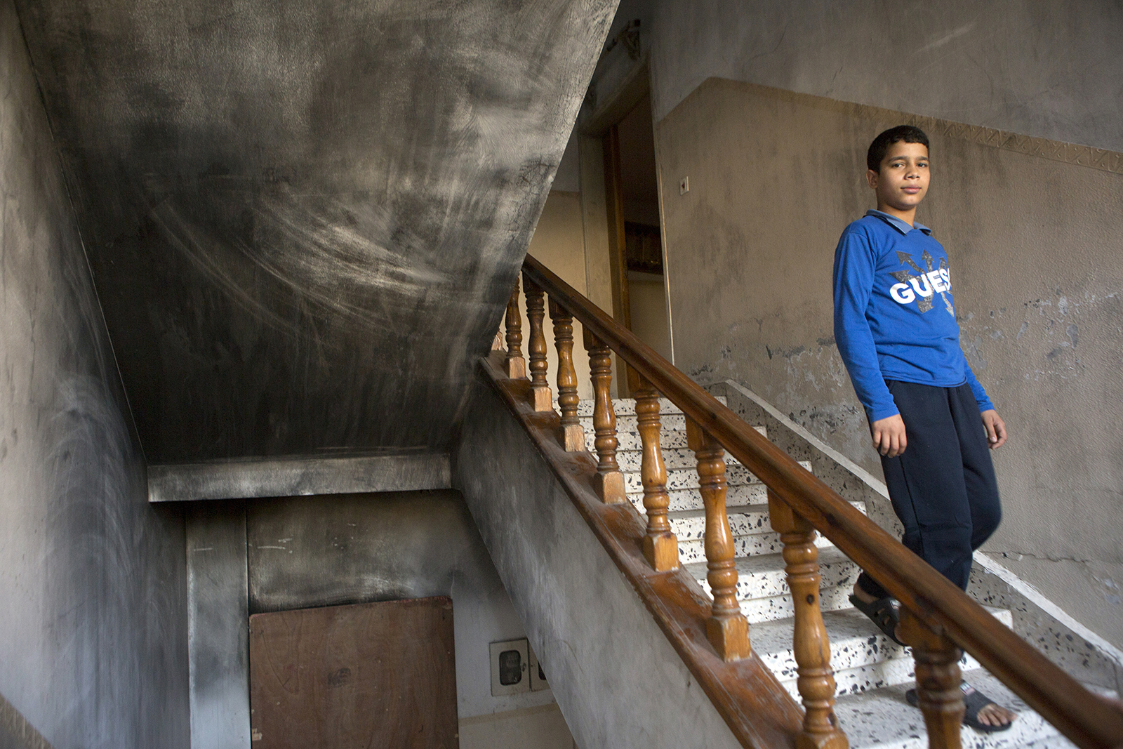
[[[614,0],[18,0],[149,462],[440,448]]]

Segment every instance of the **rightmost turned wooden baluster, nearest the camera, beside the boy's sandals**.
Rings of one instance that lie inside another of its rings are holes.
[[[959,648],[904,606],[901,608],[901,636],[912,646],[916,663],[916,696],[928,728],[928,746],[930,749],[959,749],[959,729],[964,721]]]

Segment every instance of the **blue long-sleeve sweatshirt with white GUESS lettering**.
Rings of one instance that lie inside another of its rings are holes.
[[[867,211],[834,250],[834,340],[873,422],[898,413],[886,380],[971,386],[993,409],[959,347],[948,254],[931,230]]]

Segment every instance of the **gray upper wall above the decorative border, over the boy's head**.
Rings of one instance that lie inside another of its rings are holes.
[[[1123,150],[1113,0],[621,6],[650,35],[656,121],[720,76]]]

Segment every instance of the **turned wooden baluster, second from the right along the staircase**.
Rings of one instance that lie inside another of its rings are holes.
[[[787,585],[795,606],[796,685],[806,714],[798,749],[847,749],[850,742],[834,718],[834,672],[831,645],[819,606],[819,549],[815,529],[782,499],[768,491],[768,519],[784,545]]]

